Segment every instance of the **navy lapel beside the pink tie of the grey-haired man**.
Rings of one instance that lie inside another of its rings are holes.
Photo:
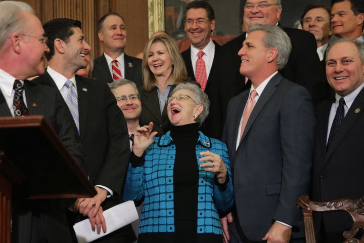
[[[263,109],[270,97],[276,92],[276,86],[281,83],[281,79],[282,75],[280,73],[277,73],[268,81],[268,84],[265,86],[263,92],[260,94],[258,102],[255,104],[253,111],[249,116],[247,125],[244,129],[242,140],[244,140],[251,126],[254,124],[254,121],[259,115],[260,111]]]

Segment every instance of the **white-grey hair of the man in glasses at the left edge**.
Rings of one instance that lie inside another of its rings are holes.
[[[30,5],[16,1],[0,2],[0,48],[4,46],[9,34],[22,32],[26,20],[22,11],[34,14]]]

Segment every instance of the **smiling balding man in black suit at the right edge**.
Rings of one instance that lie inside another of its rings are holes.
[[[326,73],[336,94],[315,107],[311,196],[356,199],[364,195],[364,45],[338,39],[328,48]],[[352,226],[345,212],[316,213],[314,219],[316,232],[325,232],[324,242],[343,242],[343,231]]]

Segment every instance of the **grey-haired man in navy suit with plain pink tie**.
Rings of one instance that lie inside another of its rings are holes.
[[[230,101],[222,135],[236,201],[230,242],[304,237],[295,201],[308,192],[315,121],[307,90],[278,72],[290,51],[288,35],[272,25],[251,26],[239,51],[251,87]]]

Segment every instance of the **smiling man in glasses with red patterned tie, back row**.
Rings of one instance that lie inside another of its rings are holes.
[[[185,9],[185,31],[191,46],[181,53],[185,60],[189,77],[200,83],[210,100],[210,112],[204,123],[205,133],[209,137],[221,139],[222,117],[221,104],[217,86],[217,51],[219,45],[211,40],[211,32],[215,28],[215,13],[211,5],[204,1],[194,1]],[[198,53],[203,52],[206,84],[201,84]]]

